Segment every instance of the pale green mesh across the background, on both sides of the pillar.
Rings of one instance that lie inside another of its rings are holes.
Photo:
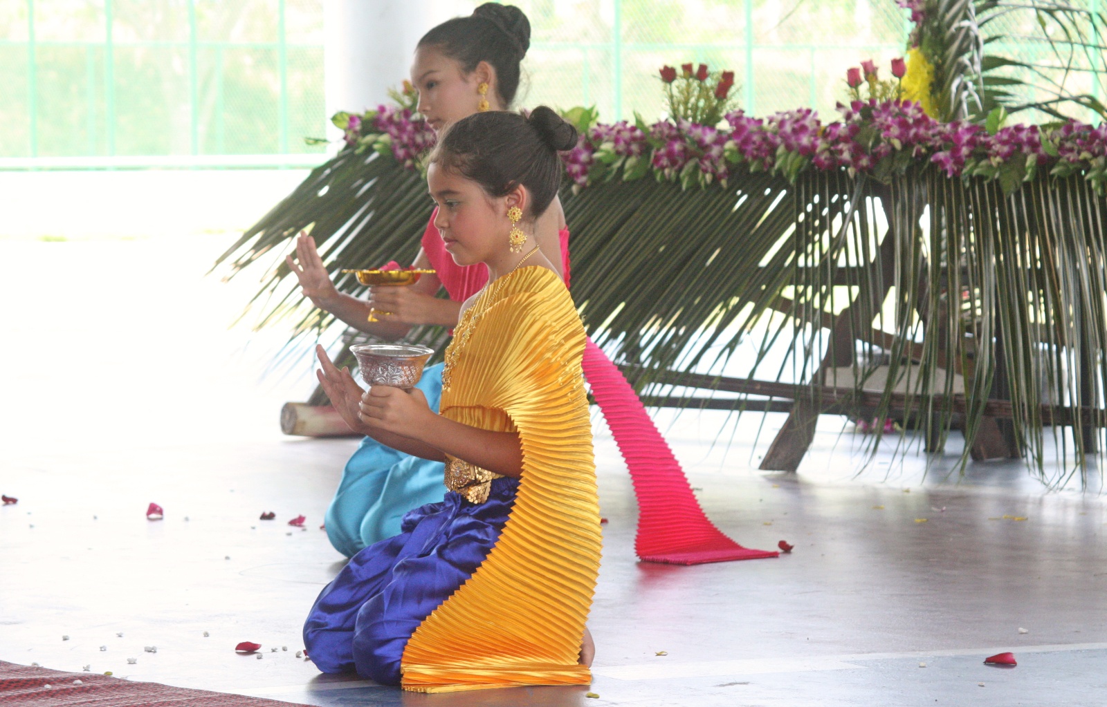
[[[831,121],[845,70],[869,58],[887,67],[910,29],[893,0],[515,1],[534,29],[519,103],[596,105],[604,121],[660,117],[658,69],[682,62],[734,71],[736,105],[749,113],[811,106]],[[476,4],[434,7],[462,14]],[[302,138],[327,126],[322,15],[322,0],[0,0],[0,159],[303,164],[323,148]],[[1033,33],[1023,25],[1035,18],[1001,22],[1017,37]],[[990,51],[1048,60],[1043,44]],[[1063,80],[1069,91],[1099,91],[1087,72],[1044,70],[1037,82]]]

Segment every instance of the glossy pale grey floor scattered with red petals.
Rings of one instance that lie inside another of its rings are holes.
[[[29,313],[20,269],[0,279],[11,342],[0,347],[0,491],[20,498],[0,508],[0,659],[321,706],[1107,703],[1098,486],[1046,492],[1012,462],[945,478],[955,444],[924,474],[883,443],[858,474],[862,439],[830,417],[798,476],[765,475],[758,455],[783,416],[761,437],[748,416],[715,444],[727,428],[714,413],[659,416],[705,509],[744,544],[796,548],[694,568],[637,562],[630,484],[597,420],[610,519],[590,620],[598,698],[422,696],[320,676],[294,652],[341,566],[319,524],[356,443],[277,433],[279,404],[302,398],[310,368],[257,382],[271,337],[225,330],[245,285],[203,280],[223,242],[201,243],[0,239],[6,262],[97,283],[37,297]],[[162,294],[135,300],[136,289]],[[164,520],[145,519],[151,501]],[[278,520],[259,521],[267,510]],[[286,524],[299,513],[304,530]],[[262,657],[235,654],[240,641],[261,643]],[[1001,651],[1020,665],[982,664]]]

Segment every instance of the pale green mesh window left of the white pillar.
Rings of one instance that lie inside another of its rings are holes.
[[[321,153],[322,25],[322,0],[0,0],[0,158]]]

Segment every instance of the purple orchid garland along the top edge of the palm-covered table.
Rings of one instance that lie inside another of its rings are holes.
[[[903,92],[911,94],[909,55]],[[869,70],[866,66],[866,70]],[[901,65],[893,66],[899,77]],[[876,81],[875,69],[867,71]],[[847,81],[852,81],[847,76]],[[856,86],[851,86],[856,89]],[[870,92],[872,93],[872,92]],[[879,91],[877,92],[880,93]],[[373,149],[391,155],[408,169],[424,169],[434,132],[414,112],[414,90],[394,94],[399,105],[380,105],[361,115],[339,113],[334,124],[345,131],[346,149]],[[406,103],[402,103],[405,101]],[[1084,174],[1096,191],[1107,186],[1107,124],[1098,127],[1068,121],[1046,125],[985,126],[968,121],[942,123],[924,103],[908,98],[856,98],[838,104],[840,119],[823,124],[810,108],[775,113],[765,118],[731,111],[720,125],[684,118],[646,124],[596,121],[594,110],[573,108],[566,116],[581,135],[576,147],[561,153],[575,189],[652,174],[659,181],[684,188],[726,186],[735,169],[778,174],[789,181],[808,169],[845,169],[888,181],[909,167],[933,166],[950,178],[999,180],[1006,193],[1043,168],[1057,177]],[[992,127],[993,129],[989,129]]]

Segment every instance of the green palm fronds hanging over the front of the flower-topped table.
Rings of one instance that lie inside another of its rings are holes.
[[[964,459],[999,430],[1059,484],[1084,472],[1105,419],[1107,201],[1094,170],[1011,164],[1015,177],[993,180],[920,160],[887,184],[844,167],[789,180],[744,164],[705,188],[567,185],[572,293],[593,339],[644,393],[737,389],[735,378],[756,377],[745,391],[777,395],[783,384],[810,410],[902,419],[930,451],[961,429]],[[331,320],[302,306],[294,278],[267,258],[302,228],[332,271],[411,258],[430,211],[417,173],[346,149],[218,267],[263,266],[261,324],[288,318],[306,335]],[[441,331],[414,335],[445,343]],[[866,381],[878,372],[887,382],[875,395]],[[1046,472],[1049,425],[1075,459],[1061,476]]]

